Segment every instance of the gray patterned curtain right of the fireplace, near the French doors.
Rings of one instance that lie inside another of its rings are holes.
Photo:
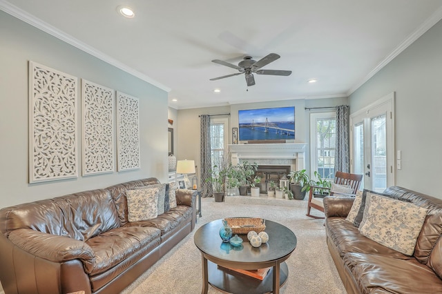
[[[350,172],[349,106],[336,106],[336,155],[334,170]]]

